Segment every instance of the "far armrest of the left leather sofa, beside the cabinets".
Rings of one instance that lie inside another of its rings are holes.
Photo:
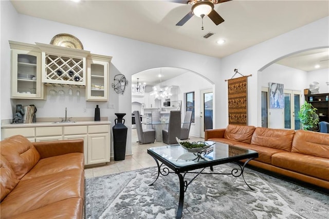
[[[83,139],[33,142],[40,158],[53,157],[68,153],[83,153]]]

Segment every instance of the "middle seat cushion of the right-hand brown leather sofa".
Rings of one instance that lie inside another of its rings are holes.
[[[255,145],[255,144],[246,144],[246,143],[240,143],[240,144],[235,144],[234,146],[244,148],[244,149],[250,149],[253,151],[258,152],[258,158],[254,158],[254,160],[264,162],[267,164],[271,164],[271,157],[273,154],[284,152],[283,150],[275,149],[275,148],[267,148],[267,147],[262,147],[260,145]]]

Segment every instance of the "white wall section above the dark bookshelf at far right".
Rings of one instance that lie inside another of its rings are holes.
[[[307,72],[307,84],[305,88],[309,87],[312,82],[319,82],[319,93],[329,93],[329,68],[313,70]]]

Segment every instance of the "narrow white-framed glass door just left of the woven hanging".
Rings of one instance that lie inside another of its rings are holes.
[[[200,110],[200,123],[202,138],[205,137],[205,130],[213,129],[213,93],[212,89],[201,90],[201,110]]]

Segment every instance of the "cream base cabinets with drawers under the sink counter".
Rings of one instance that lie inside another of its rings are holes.
[[[85,165],[110,161],[111,123],[100,121],[61,123],[29,123],[2,125],[2,139],[23,135],[31,142],[83,139]]]

